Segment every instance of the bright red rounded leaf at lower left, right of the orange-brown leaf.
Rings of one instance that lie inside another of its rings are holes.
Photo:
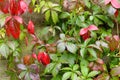
[[[45,52],[39,52],[38,61],[41,62],[43,65],[48,65],[50,63],[50,57]]]

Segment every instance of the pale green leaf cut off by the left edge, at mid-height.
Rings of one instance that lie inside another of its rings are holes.
[[[0,54],[5,58],[9,55],[9,47],[5,43],[0,45]]]

